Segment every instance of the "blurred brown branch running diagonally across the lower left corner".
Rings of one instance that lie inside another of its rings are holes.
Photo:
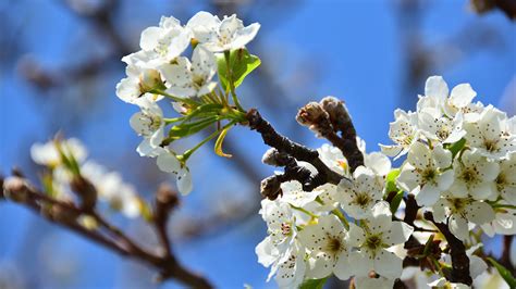
[[[52,199],[30,186],[28,180],[21,177],[12,177],[5,181],[1,179],[0,183],[2,183],[3,188],[2,197],[30,209],[49,222],[65,227],[116,254],[155,267],[159,272],[160,280],[174,278],[188,287],[212,288],[206,278],[184,267],[172,253],[170,240],[165,234],[164,225],[167,222],[160,223],[162,226],[158,226],[158,235],[162,240],[161,244],[165,254],[157,255],[138,246],[122,230],[106,221],[95,209],[84,210],[73,203]],[[89,229],[81,225],[78,222],[79,216],[93,217],[107,234],[105,235],[99,229]]]

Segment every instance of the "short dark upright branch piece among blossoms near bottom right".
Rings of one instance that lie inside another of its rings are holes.
[[[450,231],[446,224],[437,223],[433,219],[432,212],[425,212],[425,218],[432,222],[435,227],[444,235],[450,246],[450,255],[452,256],[452,272],[446,276],[452,282],[462,282],[471,286],[472,279],[469,275],[469,257],[466,254],[464,243]]]

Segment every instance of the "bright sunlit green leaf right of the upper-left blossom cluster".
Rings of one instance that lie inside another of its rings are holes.
[[[219,66],[220,84],[224,90],[228,91],[230,89],[230,74],[228,72],[228,66],[230,66],[231,70],[234,88],[237,88],[242,81],[244,81],[244,78],[261,64],[261,61],[258,56],[249,54],[247,49],[242,48],[230,52],[229,65],[225,62],[223,53],[217,56],[217,63]]]

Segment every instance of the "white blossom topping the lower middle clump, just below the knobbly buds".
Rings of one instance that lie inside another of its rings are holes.
[[[349,216],[361,219],[369,216],[373,205],[382,200],[383,186],[371,169],[359,166],[353,173],[352,181],[341,180],[339,192],[342,209]]]

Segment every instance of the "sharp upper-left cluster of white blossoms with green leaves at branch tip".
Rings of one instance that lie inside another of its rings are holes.
[[[197,147],[179,154],[169,144],[236,117],[228,96],[231,90],[238,104],[234,88],[243,76],[229,72],[243,62],[242,55],[249,56],[245,46],[259,27],[257,23],[244,26],[235,15],[220,20],[208,12],[195,14],[185,25],[163,16],[158,26],[143,30],[140,50],[122,59],[127,76],[118,84],[116,96],[140,109],[130,120],[132,128],[144,138],[137,152],[156,158],[161,171],[175,174],[182,193],[193,188],[186,160]],[[236,59],[232,56],[235,53],[239,55]],[[218,88],[217,74],[224,91]],[[181,117],[164,117],[158,104],[163,99],[172,100]]]

